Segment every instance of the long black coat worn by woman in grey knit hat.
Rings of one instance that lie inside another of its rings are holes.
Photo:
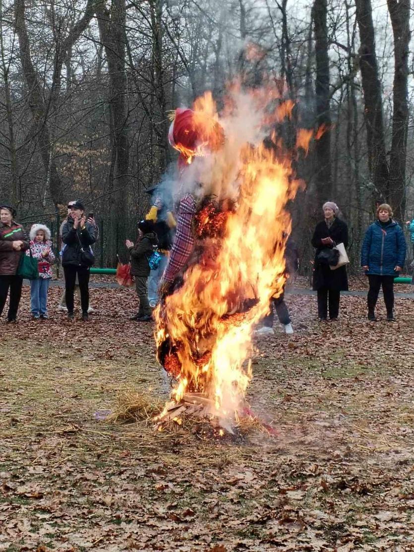
[[[328,228],[325,220],[316,225],[314,235],[312,236],[312,246],[316,247],[313,289],[328,288],[336,291],[348,290],[348,276],[346,266],[331,270],[327,264],[321,264],[317,255],[323,249],[333,246],[323,245],[322,238],[332,238],[335,243],[343,243],[348,247],[348,226],[343,220],[335,218]]]

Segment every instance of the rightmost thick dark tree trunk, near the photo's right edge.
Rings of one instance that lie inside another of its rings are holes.
[[[394,34],[394,85],[389,201],[397,220],[404,221],[406,204],[406,160],[408,132],[408,54],[410,0],[387,0]]]

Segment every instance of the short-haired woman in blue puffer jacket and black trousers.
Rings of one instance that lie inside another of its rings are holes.
[[[404,233],[392,220],[391,207],[383,203],[376,210],[378,220],[365,232],[361,251],[361,266],[368,275],[368,320],[375,318],[375,305],[383,286],[387,321],[394,319],[394,277],[401,272],[405,261]]]

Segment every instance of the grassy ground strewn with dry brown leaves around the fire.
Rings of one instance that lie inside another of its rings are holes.
[[[220,440],[97,420],[168,381],[134,291],[91,295],[88,323],[30,321],[28,288],[1,322],[0,550],[414,550],[413,299],[374,324],[347,296],[319,325],[314,296],[288,296],[296,332],[257,340],[248,391],[276,435]]]

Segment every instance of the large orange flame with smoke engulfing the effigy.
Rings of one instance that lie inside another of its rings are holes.
[[[182,178],[197,174],[202,194],[214,193],[221,208],[215,212],[209,204],[198,213],[196,244],[205,227],[216,225],[214,231],[204,238],[199,262],[187,269],[182,287],[156,311],[157,344],[168,341],[169,346],[163,364],[177,380],[174,399],[202,392],[214,404],[212,413],[230,420],[237,417],[252,378],[248,359],[254,326],[285,284],[284,248],[291,226],[286,203],[300,185],[291,159],[277,157],[277,137],[275,147],[263,145],[269,113],[276,121],[293,107],[289,102],[275,109],[275,101],[274,91],[235,89],[221,118],[211,94],[195,102],[195,120],[210,141],[218,128],[224,129],[225,141],[217,136],[222,147],[201,157],[199,152],[189,155],[193,163]]]

